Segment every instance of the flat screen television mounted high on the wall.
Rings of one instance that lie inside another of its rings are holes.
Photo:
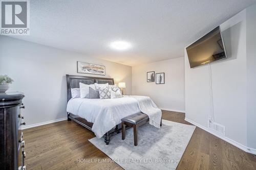
[[[186,47],[190,68],[226,58],[220,27]]]

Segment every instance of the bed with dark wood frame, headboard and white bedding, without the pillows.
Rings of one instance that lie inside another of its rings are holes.
[[[79,83],[114,85],[114,79],[66,76],[68,120],[74,120],[91,130],[97,138],[103,137],[106,144],[109,144],[111,136],[121,132],[121,119],[132,114],[147,114],[149,123],[160,129],[162,112],[150,97],[124,95],[123,98],[117,99],[72,98],[71,89],[79,88]]]

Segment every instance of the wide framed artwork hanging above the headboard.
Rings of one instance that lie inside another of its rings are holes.
[[[77,73],[106,75],[105,66],[77,61]]]

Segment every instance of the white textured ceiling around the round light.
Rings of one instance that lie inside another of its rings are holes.
[[[30,36],[15,38],[133,66],[183,56],[186,45],[254,2],[30,0]],[[133,48],[113,51],[115,40]]]

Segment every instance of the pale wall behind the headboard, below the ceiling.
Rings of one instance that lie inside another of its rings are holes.
[[[25,93],[27,125],[67,116],[66,74],[114,78],[132,92],[132,67],[78,53],[0,36],[0,75],[14,79],[9,91]],[[106,76],[77,74],[76,61],[106,66]]]

